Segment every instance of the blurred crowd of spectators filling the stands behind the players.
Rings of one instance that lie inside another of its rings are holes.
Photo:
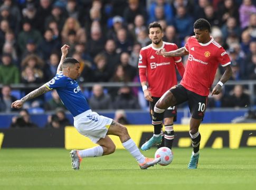
[[[80,83],[139,82],[139,51],[151,43],[148,24],[160,22],[164,41],[181,48],[193,35],[198,18],[211,23],[211,35],[229,53],[231,80],[256,79],[253,0],[1,0],[0,83],[4,86],[0,111],[17,111],[10,106],[20,98],[13,96],[12,84],[40,86],[55,76],[63,44],[71,47],[68,56],[80,62]],[[186,56],[183,59],[186,64]],[[223,72],[219,68],[216,81]],[[31,90],[21,91],[21,96]],[[140,88],[95,84],[83,91],[92,109],[147,107]],[[210,107],[249,105],[249,94],[241,85],[214,96],[209,103]],[[55,91],[24,105],[43,111],[59,107],[65,109]],[[54,122],[49,126],[62,125],[57,113],[51,118]]]

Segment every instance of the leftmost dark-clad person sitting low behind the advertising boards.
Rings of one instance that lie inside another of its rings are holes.
[[[34,128],[37,127],[33,122],[30,121],[30,115],[27,110],[21,110],[18,116],[12,118],[11,128]]]

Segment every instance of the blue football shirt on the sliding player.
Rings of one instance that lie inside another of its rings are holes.
[[[45,85],[51,90],[56,89],[64,106],[71,112],[73,117],[90,109],[78,82],[66,77],[62,72],[57,73]]]

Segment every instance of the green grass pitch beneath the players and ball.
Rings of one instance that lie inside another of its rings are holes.
[[[156,149],[144,152],[152,157]],[[69,150],[1,149],[0,189],[255,189],[256,148],[200,150],[198,169],[187,169],[191,148],[174,148],[169,166],[141,170],[126,150],[83,159],[71,169]]]

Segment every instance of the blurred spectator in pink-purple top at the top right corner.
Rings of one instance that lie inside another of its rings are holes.
[[[243,0],[242,5],[239,7],[240,25],[242,29],[249,25],[250,15],[256,13],[256,7],[252,4],[251,0]]]

